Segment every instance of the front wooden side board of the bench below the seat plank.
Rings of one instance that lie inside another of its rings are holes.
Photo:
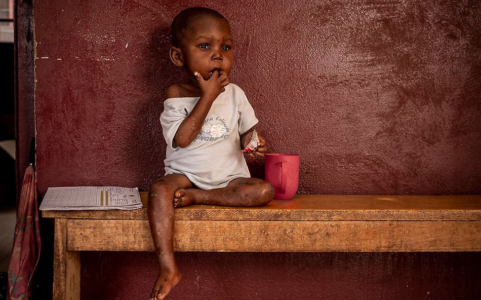
[[[69,220],[77,251],[153,251],[141,220]],[[176,221],[176,251],[481,251],[480,221]]]

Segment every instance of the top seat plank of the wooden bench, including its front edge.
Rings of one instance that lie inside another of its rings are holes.
[[[147,220],[131,211],[42,211],[45,218]],[[253,208],[194,205],[175,210],[175,220],[205,221],[481,221],[481,195],[296,195]]]

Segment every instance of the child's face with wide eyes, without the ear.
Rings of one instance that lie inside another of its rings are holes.
[[[200,18],[186,29],[181,51],[184,68],[192,79],[195,79],[194,72],[199,72],[204,80],[215,70],[229,75],[233,59],[229,24],[222,19]]]

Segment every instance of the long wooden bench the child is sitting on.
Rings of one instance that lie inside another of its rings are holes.
[[[80,300],[80,251],[154,251],[144,207],[55,218],[54,299]],[[176,251],[481,251],[481,196],[297,195],[256,208],[175,210]]]

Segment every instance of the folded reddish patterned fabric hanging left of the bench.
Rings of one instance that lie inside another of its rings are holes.
[[[40,258],[39,210],[34,168],[25,171],[12,258],[8,266],[8,300],[31,298],[32,278]]]

